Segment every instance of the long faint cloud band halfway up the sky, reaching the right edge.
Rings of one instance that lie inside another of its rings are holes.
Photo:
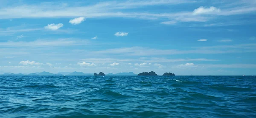
[[[116,54],[124,56],[152,56],[152,55],[174,55],[174,54],[187,54],[187,53],[201,53],[201,54],[215,54],[215,53],[244,53],[256,52],[256,44],[244,45],[217,45],[207,47],[192,47],[190,50],[176,50],[176,49],[154,49],[144,47],[124,47],[112,48],[102,51],[92,51],[95,54]],[[248,48],[250,47],[250,48]],[[244,49],[244,50],[241,50]]]

